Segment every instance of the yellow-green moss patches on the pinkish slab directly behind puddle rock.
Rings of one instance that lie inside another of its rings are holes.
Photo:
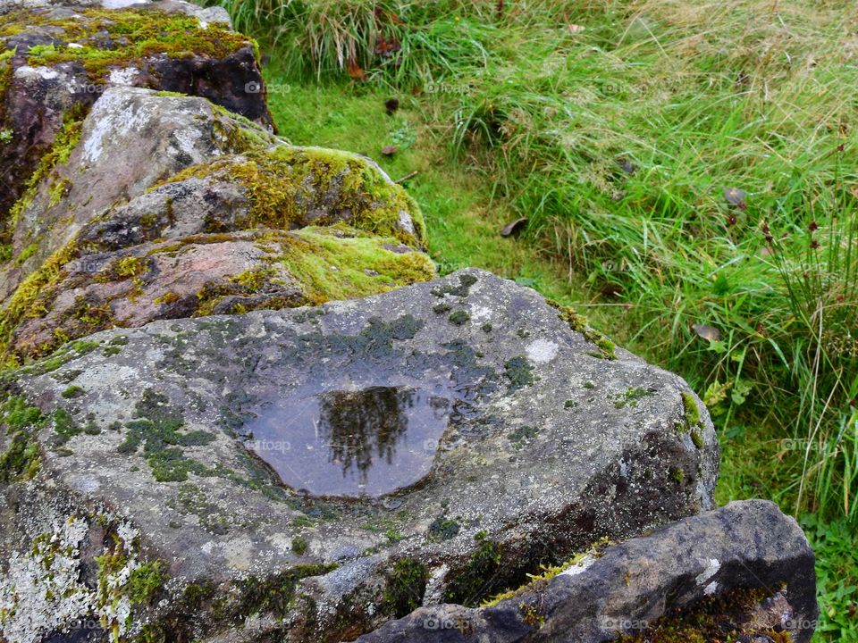
[[[181,253],[195,244],[225,243],[247,237],[230,234],[196,235],[173,244],[162,244],[144,256],[127,255],[115,259],[99,272],[97,281],[131,280],[127,295],[130,301],[143,296],[142,276],[150,269],[150,256],[160,253]],[[373,234],[349,228],[344,224],[331,227],[308,227],[294,232],[268,230],[257,232],[251,238],[265,242],[274,250],[265,262],[250,271],[234,275],[229,281],[206,287],[198,293],[195,315],[214,312],[226,296],[248,296],[260,291],[282,287],[277,277],[281,264],[290,278],[299,285],[299,297],[269,297],[252,303],[234,305],[230,313],[246,313],[255,307],[269,309],[289,305],[315,305],[333,299],[350,299],[376,295],[392,288],[432,280],[436,276],[432,260],[417,251],[401,252],[402,246],[394,238],[380,238]],[[396,248],[399,252],[394,252]],[[60,288],[63,264],[77,253],[73,243],[52,255],[11,297],[10,304],[0,310],[0,354],[10,366],[24,357],[45,355],[50,350],[73,338],[112,328],[117,324],[109,302],[76,300],[67,321],[54,330],[54,337],[38,347],[27,347],[26,352],[10,346],[13,332],[28,318],[42,317],[48,312],[57,288]],[[290,280],[291,282],[291,280]],[[272,288],[268,288],[272,287]],[[168,292],[159,296],[156,304],[172,304],[180,296]]]

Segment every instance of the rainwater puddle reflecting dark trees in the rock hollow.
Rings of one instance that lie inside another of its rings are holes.
[[[284,397],[245,425],[246,446],[302,493],[379,497],[430,472],[450,406],[401,386]]]

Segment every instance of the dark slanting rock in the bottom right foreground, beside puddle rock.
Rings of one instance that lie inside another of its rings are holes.
[[[576,557],[496,605],[423,607],[358,641],[774,641],[788,633],[806,643],[818,616],[813,565],[801,528],[777,505],[734,502]]]

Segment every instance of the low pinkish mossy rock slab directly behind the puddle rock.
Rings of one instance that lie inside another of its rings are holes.
[[[319,305],[435,276],[427,255],[339,224],[293,232],[200,234],[77,256],[15,318],[11,359],[46,355],[98,330],[158,319]],[[38,273],[40,274],[40,273]]]

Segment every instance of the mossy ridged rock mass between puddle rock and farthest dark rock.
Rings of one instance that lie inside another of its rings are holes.
[[[435,275],[416,252],[419,209],[370,159],[290,146],[199,97],[108,89],[19,205],[0,262],[0,354],[16,357],[115,326],[318,304]],[[274,232],[311,224],[348,226]]]

